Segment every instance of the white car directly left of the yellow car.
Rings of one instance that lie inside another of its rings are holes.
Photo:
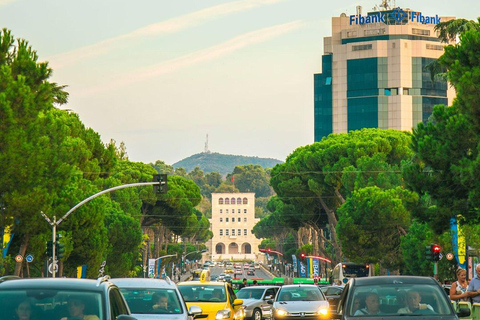
[[[111,281],[120,288],[132,315],[138,320],[159,315],[165,320],[190,320],[202,313],[198,306],[187,310],[180,291],[169,278],[114,278]],[[157,305],[157,297],[161,296],[167,301],[164,308]]]

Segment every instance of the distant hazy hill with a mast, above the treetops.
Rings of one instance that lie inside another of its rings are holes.
[[[283,161],[271,158],[235,156],[220,153],[197,153],[173,164],[174,168],[184,168],[187,172],[199,167],[203,172],[218,172],[222,176],[231,173],[235,166],[258,164],[263,168],[273,168]]]

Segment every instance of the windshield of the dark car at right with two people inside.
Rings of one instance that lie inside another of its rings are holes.
[[[452,315],[450,300],[439,286],[393,283],[355,286],[352,289],[347,313],[355,317]]]

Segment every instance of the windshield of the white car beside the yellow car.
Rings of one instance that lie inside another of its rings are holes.
[[[120,288],[130,312],[136,314],[182,313],[180,299],[173,289]]]

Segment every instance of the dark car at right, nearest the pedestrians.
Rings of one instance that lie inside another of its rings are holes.
[[[378,276],[351,278],[343,289],[332,319],[442,319],[468,317],[469,308],[458,313],[433,278],[419,276]]]

